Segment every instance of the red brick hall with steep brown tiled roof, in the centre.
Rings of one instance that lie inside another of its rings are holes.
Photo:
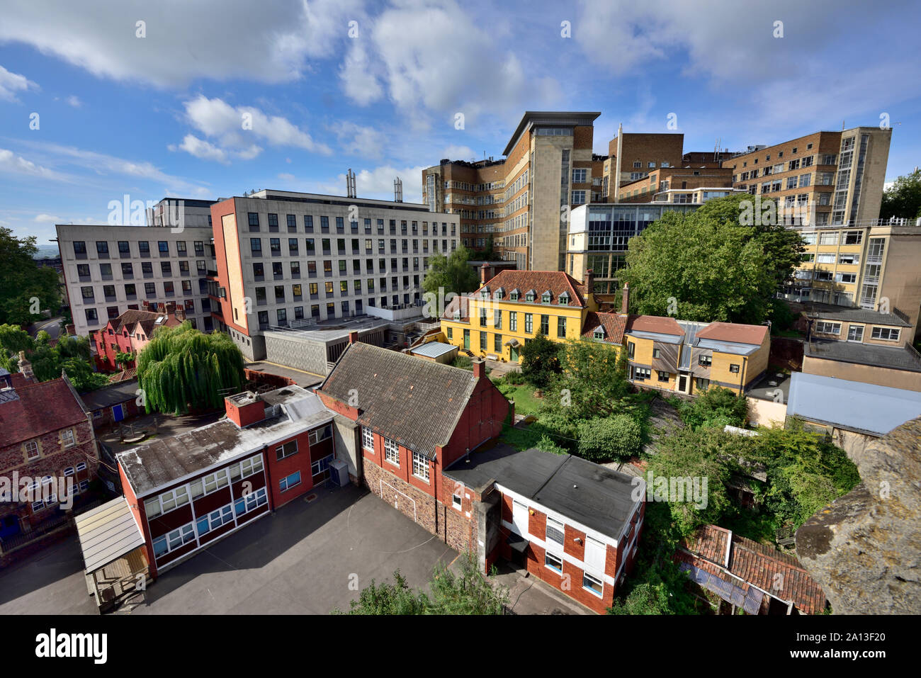
[[[361,427],[364,484],[452,548],[465,551],[474,525],[450,508],[442,473],[497,438],[513,407],[485,376],[378,346],[353,343],[317,389]]]

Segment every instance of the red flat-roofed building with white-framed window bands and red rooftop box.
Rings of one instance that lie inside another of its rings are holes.
[[[227,418],[117,455],[151,577],[328,476],[334,413],[299,386],[225,400]]]

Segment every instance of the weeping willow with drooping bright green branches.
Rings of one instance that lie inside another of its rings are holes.
[[[203,334],[189,321],[161,327],[137,358],[148,413],[217,409],[221,391],[243,383],[243,355],[227,334]]]

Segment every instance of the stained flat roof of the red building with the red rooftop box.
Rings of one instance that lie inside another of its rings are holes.
[[[285,386],[262,393],[262,401],[278,405],[267,409],[268,418],[240,428],[228,418],[194,428],[171,438],[156,438],[146,445],[116,455],[137,497],[192,478],[222,463],[254,454],[266,445],[290,438],[332,421],[333,412],[320,398],[300,386]]]

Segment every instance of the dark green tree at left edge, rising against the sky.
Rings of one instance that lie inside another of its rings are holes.
[[[58,275],[35,263],[36,252],[35,236],[20,239],[0,228],[0,323],[25,325],[41,320],[36,308],[56,311],[60,305]]]

